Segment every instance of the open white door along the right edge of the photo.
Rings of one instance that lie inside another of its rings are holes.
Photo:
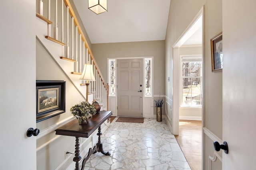
[[[223,170],[255,169],[256,1],[224,0]]]

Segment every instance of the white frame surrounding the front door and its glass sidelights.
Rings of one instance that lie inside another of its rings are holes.
[[[153,56],[150,56],[150,57],[116,57],[116,58],[107,58],[108,62],[109,63],[109,60],[112,60],[112,59],[115,59],[116,61],[117,60],[120,60],[120,59],[143,59],[143,68],[145,66],[145,63],[144,63],[144,59],[148,59],[148,58],[151,58],[152,59],[152,63],[151,63],[151,79],[152,79],[152,85],[151,85],[151,94],[152,96],[151,97],[146,97],[145,94],[144,94],[144,90],[143,90],[143,117],[145,118],[154,118],[154,57]],[[117,68],[118,69],[118,68]],[[109,64],[108,64],[108,84],[110,84],[110,77],[109,77],[109,71],[110,71],[110,68],[109,68]],[[145,75],[145,69],[143,69],[143,76]],[[116,76],[117,78],[117,76]],[[116,81],[117,82],[117,81]],[[118,85],[118,84],[117,84]],[[143,87],[145,87],[145,80],[143,78],[143,84],[142,84]],[[117,93],[117,90],[116,90],[116,93]],[[109,96],[109,109],[113,112],[113,116],[117,116],[117,113],[118,113],[118,110],[117,110],[117,94],[115,96]]]

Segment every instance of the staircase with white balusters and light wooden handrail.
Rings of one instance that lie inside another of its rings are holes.
[[[68,0],[37,0],[36,38],[86,98],[84,64],[93,66],[96,81],[88,86],[88,102],[97,101],[108,110],[108,89]],[[54,17],[51,17],[53,14]],[[81,24],[82,25],[82,24]]]

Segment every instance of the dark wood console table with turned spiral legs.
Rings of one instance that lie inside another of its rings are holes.
[[[79,161],[82,159],[80,156],[80,141],[79,137],[86,137],[88,138],[97,128],[98,128],[98,143],[93,148],[89,149],[87,157],[84,158],[82,162],[82,168],[84,169],[84,165],[86,161],[90,158],[90,156],[93,153],[101,152],[104,155],[110,155],[109,152],[104,152],[102,143],[100,141],[100,135],[101,133],[101,124],[108,119],[112,115],[112,111],[100,111],[100,113],[96,113],[96,115],[93,115],[89,119],[87,119],[87,124],[78,124],[78,120],[75,119],[73,121],[70,121],[69,123],[59,127],[56,129],[56,135],[66,135],[66,136],[74,136],[76,137],[76,145],[75,145],[75,157],[73,158],[73,161],[76,162],[76,170],[79,170]]]

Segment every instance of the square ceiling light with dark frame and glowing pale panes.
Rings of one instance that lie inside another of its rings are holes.
[[[101,14],[108,11],[107,0],[88,0],[88,9],[95,14]]]

